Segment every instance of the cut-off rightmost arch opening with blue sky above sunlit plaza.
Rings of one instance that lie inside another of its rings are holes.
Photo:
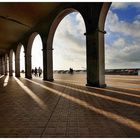
[[[137,81],[140,71],[139,15],[139,3],[111,4],[105,24],[105,68],[109,86],[129,88],[124,83],[127,79],[133,88],[131,78]]]

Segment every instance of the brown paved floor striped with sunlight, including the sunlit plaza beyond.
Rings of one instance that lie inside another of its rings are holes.
[[[140,137],[140,77],[76,80],[0,76],[0,137]]]

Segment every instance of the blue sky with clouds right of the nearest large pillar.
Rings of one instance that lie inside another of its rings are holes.
[[[105,30],[106,68],[140,68],[140,3],[113,3]]]

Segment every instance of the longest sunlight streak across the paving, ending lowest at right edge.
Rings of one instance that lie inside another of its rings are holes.
[[[85,107],[85,108],[87,108],[89,110],[92,110],[92,111],[94,111],[94,112],[96,112],[98,114],[101,114],[101,115],[103,115],[103,116],[105,116],[105,117],[107,117],[109,119],[112,119],[113,121],[116,121],[116,122],[118,122],[120,124],[123,124],[125,126],[128,126],[130,128],[133,128],[133,129],[136,129],[136,130],[140,131],[140,123],[137,122],[137,121],[134,121],[134,120],[128,119],[126,117],[123,117],[121,115],[117,115],[115,113],[112,113],[112,112],[105,111],[103,109],[94,107],[94,106],[90,105],[89,103],[87,103],[87,102],[85,102],[83,100],[77,99],[77,98],[72,97],[70,95],[66,95],[66,94],[64,94],[64,93],[62,93],[60,91],[57,91],[57,90],[54,90],[52,88],[46,87],[46,86],[44,86],[44,85],[42,85],[42,84],[40,84],[38,82],[29,80],[29,79],[25,79],[25,80],[27,80],[27,81],[29,81],[31,83],[34,83],[34,84],[36,84],[36,85],[38,85],[38,86],[40,86],[40,87],[42,87],[42,88],[44,88],[44,89],[46,89],[46,90],[48,90],[50,92],[53,92],[56,95],[64,97],[65,99],[68,99],[68,100],[70,100],[70,101],[72,101],[74,103],[77,103],[80,106],[83,106],[83,107]]]

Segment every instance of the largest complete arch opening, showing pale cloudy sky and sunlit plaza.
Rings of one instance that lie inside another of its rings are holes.
[[[85,30],[85,23],[79,12],[65,15],[59,23],[53,39],[54,79],[86,83]]]

